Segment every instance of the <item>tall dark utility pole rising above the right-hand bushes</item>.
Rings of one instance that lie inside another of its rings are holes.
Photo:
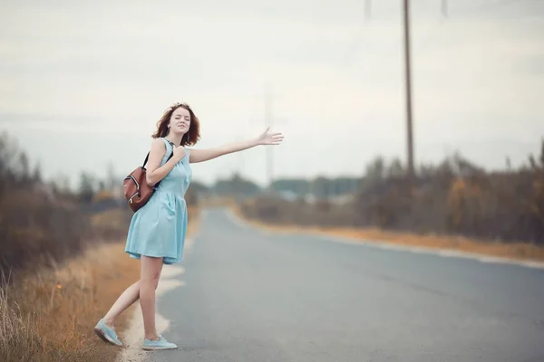
[[[404,64],[406,73],[406,132],[408,147],[408,177],[413,182],[412,77],[410,67],[410,0],[403,0]]]

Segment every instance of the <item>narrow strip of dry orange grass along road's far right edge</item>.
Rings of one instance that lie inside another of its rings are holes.
[[[272,225],[249,219],[237,206],[231,206],[239,217],[249,224],[267,228],[278,233],[325,233],[354,240],[376,243],[396,243],[434,249],[448,249],[460,252],[474,252],[483,255],[503,257],[520,261],[544,261],[544,248],[530,243],[501,243],[481,241],[465,237],[416,233],[395,233],[378,228],[317,227],[299,225]]]

